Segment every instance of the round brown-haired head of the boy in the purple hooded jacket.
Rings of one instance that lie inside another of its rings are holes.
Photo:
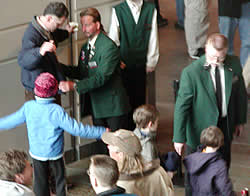
[[[224,135],[216,126],[210,126],[201,133],[200,142],[206,147],[220,148],[224,144]]]

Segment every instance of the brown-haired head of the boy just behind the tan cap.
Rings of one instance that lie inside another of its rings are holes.
[[[153,105],[142,105],[134,111],[133,119],[137,128],[146,129],[152,127],[151,130],[156,131],[159,111]]]

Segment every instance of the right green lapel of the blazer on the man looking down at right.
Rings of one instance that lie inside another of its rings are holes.
[[[224,72],[225,72],[226,104],[228,106],[231,91],[232,91],[233,69],[230,65],[225,64]]]

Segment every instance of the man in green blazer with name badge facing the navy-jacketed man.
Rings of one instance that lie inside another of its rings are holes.
[[[82,31],[88,42],[81,49],[78,66],[63,66],[66,76],[78,82],[64,81],[63,92],[76,90],[85,96],[83,107],[90,106],[94,125],[115,131],[127,127],[130,110],[120,76],[120,55],[116,44],[102,31],[97,9],[87,8],[80,13]]]

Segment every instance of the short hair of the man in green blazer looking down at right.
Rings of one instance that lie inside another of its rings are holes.
[[[211,45],[217,51],[221,51],[228,47],[228,41],[224,35],[220,33],[213,33],[207,38],[206,45]]]

